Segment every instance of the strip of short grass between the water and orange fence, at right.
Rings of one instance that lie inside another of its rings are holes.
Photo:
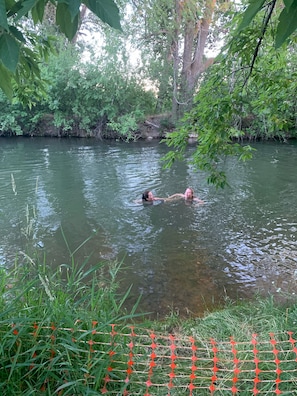
[[[172,313],[155,326],[164,332],[174,329],[177,333],[193,335],[197,340],[228,340],[233,336],[240,342],[250,340],[253,334],[263,339],[269,333],[293,331],[296,328],[296,303],[296,296],[285,294],[282,303],[277,303],[272,296],[256,296],[252,301],[231,301],[227,298],[222,309],[206,312],[202,318],[185,321]]]

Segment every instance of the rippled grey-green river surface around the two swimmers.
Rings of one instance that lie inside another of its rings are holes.
[[[72,250],[97,231],[76,260],[122,260],[127,306],[141,294],[139,310],[154,317],[201,315],[226,296],[297,293],[297,144],[254,147],[246,164],[227,160],[230,187],[216,190],[194,172],[194,146],[164,170],[168,148],[156,141],[1,138],[0,265],[26,249],[26,234],[58,266],[69,262],[61,228]],[[204,205],[134,202],[145,189],[162,197],[187,186]]]

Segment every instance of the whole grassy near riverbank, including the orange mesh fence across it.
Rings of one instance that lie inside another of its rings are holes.
[[[295,391],[294,296],[282,305],[273,298],[226,301],[200,318],[172,313],[139,322],[137,306],[123,308],[129,291],[118,294],[119,268],[72,262],[53,271],[24,254],[12,270],[1,271],[2,394],[124,395],[127,387],[144,394],[156,381],[159,391],[168,391],[169,381],[183,394],[191,386],[202,395],[234,386]]]

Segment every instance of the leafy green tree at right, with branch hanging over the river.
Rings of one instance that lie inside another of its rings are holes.
[[[231,40],[203,79],[192,110],[185,115],[182,126],[167,139],[173,148],[165,157],[167,166],[183,158],[189,134],[195,133],[198,145],[192,156],[193,165],[206,171],[208,182],[224,187],[227,182],[224,158],[237,156],[247,160],[252,157],[252,148],[242,144],[251,132],[243,127],[243,117],[252,118],[252,133],[256,133],[256,137],[285,140],[292,135],[290,129],[296,128],[297,108],[294,94],[297,89],[296,35],[291,33],[287,45],[273,48],[275,26],[279,26],[283,8],[275,8],[274,2],[270,3],[273,9],[263,8],[253,16],[251,23],[245,27],[241,23],[239,30],[231,30]]]

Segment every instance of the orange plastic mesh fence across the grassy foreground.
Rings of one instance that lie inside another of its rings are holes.
[[[93,321],[90,330],[34,324],[24,337],[35,343],[47,338],[50,360],[63,345],[59,332],[71,333],[73,345],[79,347],[70,347],[70,353],[79,355],[82,366],[91,360],[105,362],[100,385],[103,395],[297,394],[297,341],[293,332],[266,337],[252,334],[240,342],[233,337],[219,341],[134,326],[118,330],[111,325],[110,332],[100,331],[98,322]],[[13,325],[12,333],[17,342],[22,337],[21,326]],[[33,370],[37,356],[30,348]]]

